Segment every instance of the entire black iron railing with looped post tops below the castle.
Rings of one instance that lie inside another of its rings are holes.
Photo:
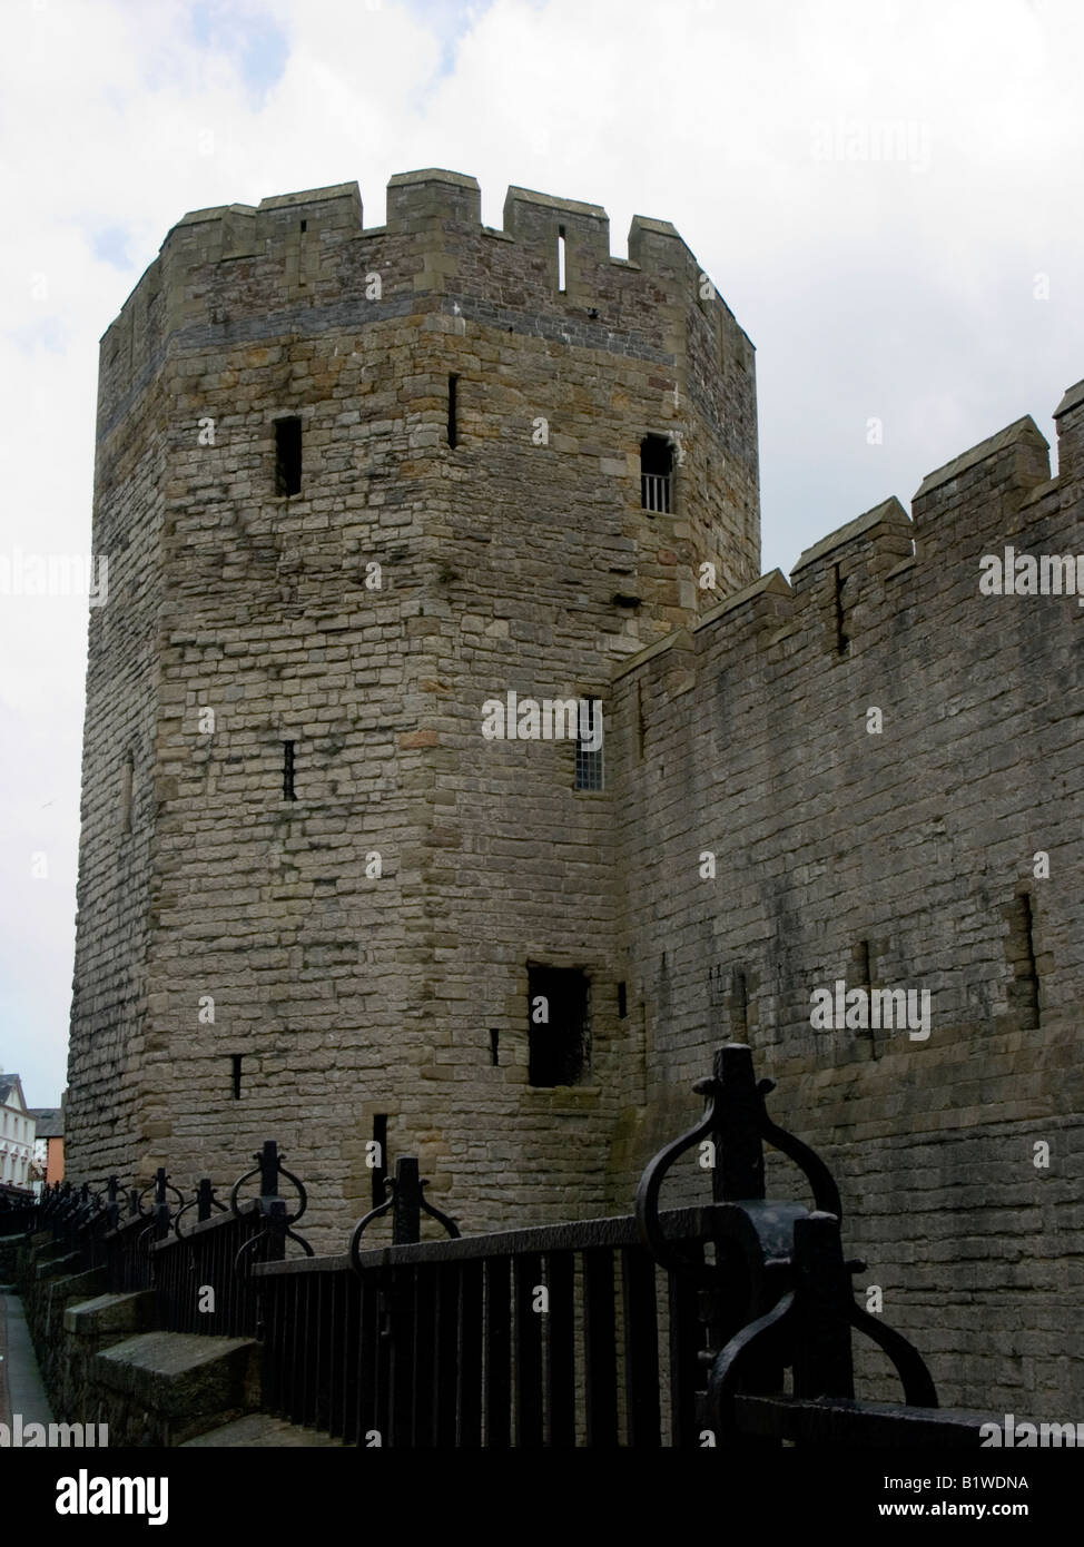
[[[359,1446],[976,1445],[988,1414],[937,1411],[917,1351],[855,1301],[835,1182],[769,1117],[750,1049],[719,1049],[696,1089],[702,1120],[623,1217],[461,1236],[407,1156],[348,1250],[314,1258],[294,1230],[305,1187],[268,1142],[229,1205],[207,1179],[184,1200],[159,1170],[142,1191],[110,1177],[0,1207],[0,1236],[51,1230],[59,1272],[152,1290],[164,1330],[258,1338],[264,1409]],[[765,1143],[812,1208],[765,1197]],[[662,1210],[694,1146],[711,1202]],[[371,1247],[382,1216],[391,1245]],[[421,1241],[424,1217],[447,1239]],[[855,1400],[855,1332],[903,1403]]]

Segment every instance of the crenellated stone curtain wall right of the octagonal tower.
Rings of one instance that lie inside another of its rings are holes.
[[[840,1183],[863,1303],[880,1287],[942,1402],[1052,1417],[1084,1398],[1084,608],[979,580],[1007,545],[1084,548],[1082,404],[1056,480],[1022,419],[926,478],[914,521],[888,501],[615,688],[648,1105],[631,1078],[611,1202],[697,1114],[713,1046],[748,1040]],[[815,1030],[838,979],[929,990],[929,1035]],[[770,1162],[770,1196],[795,1188]]]

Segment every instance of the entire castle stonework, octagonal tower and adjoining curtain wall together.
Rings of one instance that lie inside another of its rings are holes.
[[[464,1230],[625,1211],[747,1040],[942,1400],[1079,1405],[1084,608],[979,591],[1081,546],[1056,418],[1056,478],[1022,419],[759,575],[753,350],[668,223],[187,215],[102,340],[71,1176],[275,1137],[340,1250],[387,1122]],[[602,702],[591,778],[509,695]],[[929,1036],[816,1029],[840,981]]]

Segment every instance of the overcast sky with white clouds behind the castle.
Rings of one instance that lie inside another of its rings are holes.
[[[493,226],[509,183],[603,204],[622,257],[634,213],[671,220],[758,350],[765,569],[1024,413],[1053,442],[1084,376],[1073,0],[0,14],[12,575],[90,552],[97,340],[209,204],[356,179],[376,226],[394,172],[438,166]],[[85,597],[0,589],[0,1066],[34,1106],[65,1083],[85,650]]]

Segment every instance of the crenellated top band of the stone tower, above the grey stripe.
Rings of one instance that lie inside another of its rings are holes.
[[[145,387],[169,348],[258,343],[438,311],[555,345],[654,362],[656,419],[687,438],[696,398],[735,463],[742,546],[759,541],[753,347],[677,231],[634,217],[629,257],[609,254],[597,204],[510,187],[504,231],[481,224],[475,178],[424,170],[391,178],[387,224],[365,229],[357,184],[193,210],[102,339],[99,435]],[[558,251],[564,244],[564,288]],[[379,283],[377,283],[379,282]],[[435,323],[436,325],[436,320]],[[439,326],[439,325],[438,325]],[[691,470],[691,469],[690,469]]]

